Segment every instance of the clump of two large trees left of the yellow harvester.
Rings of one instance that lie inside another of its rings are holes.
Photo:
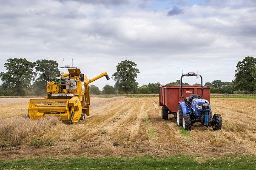
[[[45,95],[47,80],[60,75],[58,66],[54,60],[31,62],[25,58],[9,58],[4,64],[7,71],[0,73],[3,82],[0,95]]]

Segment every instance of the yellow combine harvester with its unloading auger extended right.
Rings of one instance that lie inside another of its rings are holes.
[[[60,77],[47,82],[48,94],[45,99],[30,99],[29,118],[56,115],[70,124],[85,119],[85,115],[90,115],[89,83],[104,76],[109,80],[106,72],[88,80],[80,69],[68,68],[68,73],[62,73]]]

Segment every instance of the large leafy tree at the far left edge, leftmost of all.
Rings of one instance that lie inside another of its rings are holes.
[[[25,58],[7,59],[4,64],[7,72],[0,73],[2,88],[10,90],[10,95],[25,95],[26,89],[31,88],[31,82],[34,80],[34,66],[35,63]]]

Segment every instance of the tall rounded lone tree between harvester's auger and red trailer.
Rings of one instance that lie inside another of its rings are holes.
[[[116,81],[115,87],[120,92],[136,91],[139,85],[135,80],[138,73],[136,63],[129,60],[121,61],[117,64],[117,72],[112,75]]]

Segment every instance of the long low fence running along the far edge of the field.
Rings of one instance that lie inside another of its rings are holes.
[[[45,96],[0,96],[0,98],[43,98]],[[159,97],[159,94],[100,94],[91,97],[98,98],[111,98],[111,97]],[[210,97],[230,97],[230,98],[256,98],[256,93],[254,94],[210,94]]]

